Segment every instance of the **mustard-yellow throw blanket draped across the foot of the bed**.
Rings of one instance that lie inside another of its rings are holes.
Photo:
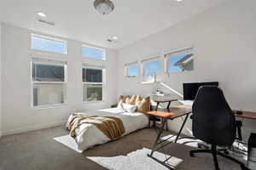
[[[113,116],[90,116],[84,114],[72,114],[69,118],[67,125],[70,130],[70,135],[76,137],[76,129],[82,124],[93,124],[102,133],[104,133],[108,139],[119,139],[125,133],[125,127],[123,122]]]

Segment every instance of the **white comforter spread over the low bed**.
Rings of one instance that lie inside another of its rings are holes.
[[[112,108],[97,111],[84,111],[80,113],[93,116],[118,117],[123,121],[125,127],[124,135],[148,126],[148,116],[145,116],[140,112],[128,113],[121,111],[118,108]],[[77,128],[76,133],[77,137],[75,140],[78,144],[79,150],[87,150],[96,144],[104,144],[110,141],[102,131],[100,131],[95,125],[91,124],[82,124]]]

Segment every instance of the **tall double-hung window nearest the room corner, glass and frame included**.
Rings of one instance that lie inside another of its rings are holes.
[[[84,66],[83,68],[83,101],[102,101],[104,69]]]

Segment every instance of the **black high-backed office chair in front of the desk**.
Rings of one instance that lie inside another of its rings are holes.
[[[236,139],[236,119],[222,90],[217,86],[199,88],[192,113],[192,131],[195,138],[211,144],[211,149],[191,150],[190,156],[195,156],[195,153],[211,153],[216,170],[219,170],[217,155],[235,161],[242,170],[248,170],[241,161],[217,150],[217,145],[230,147]]]

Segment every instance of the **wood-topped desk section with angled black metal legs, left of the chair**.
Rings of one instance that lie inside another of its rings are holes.
[[[171,141],[171,142],[168,142],[167,144],[163,144],[162,146],[159,147],[159,144],[162,144],[163,142],[166,142],[168,139],[172,138],[172,137],[170,137],[170,138],[164,139],[164,140],[160,139],[161,134],[164,132],[164,127],[166,126],[167,120],[168,119],[174,120],[177,117],[185,116],[185,119],[183,120],[183,124],[180,127],[179,132],[177,133],[177,137],[174,141],[175,143],[177,143],[177,140],[179,139],[179,136],[182,133],[183,127],[184,127],[185,123],[187,122],[189,114],[191,112],[192,111],[191,111],[191,106],[190,105],[176,105],[176,106],[170,107],[170,109],[168,111],[148,111],[146,113],[149,116],[155,116],[155,117],[160,118],[160,131],[159,131],[159,133],[158,133],[158,135],[157,135],[157,137],[154,141],[152,151],[151,151],[150,154],[148,154],[148,157],[154,159],[154,161],[159,162],[160,164],[167,167],[168,169],[173,169],[174,168],[174,167],[171,167],[169,164],[166,164],[166,161],[168,161],[170,157],[167,158],[165,161],[160,161],[157,158],[155,158],[153,156],[153,154],[154,154],[154,151],[160,150],[161,148],[165,147],[167,144],[172,143],[172,141]]]

